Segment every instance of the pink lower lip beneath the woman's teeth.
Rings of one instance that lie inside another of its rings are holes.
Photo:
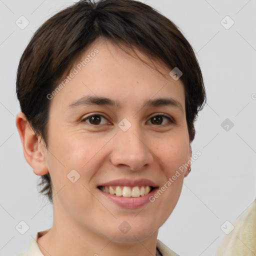
[[[133,208],[139,208],[147,204],[149,201],[149,197],[154,194],[156,188],[154,188],[151,192],[149,192],[146,195],[142,195],[139,197],[124,197],[124,196],[117,196],[110,193],[105,193],[98,189],[103,196],[105,196],[107,199],[111,200],[118,206],[121,206],[123,208],[133,209]]]

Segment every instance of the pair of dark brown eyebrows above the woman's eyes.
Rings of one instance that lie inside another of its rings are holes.
[[[81,105],[103,105],[103,106],[112,106],[112,107],[118,108],[120,107],[120,101],[113,100],[106,97],[99,97],[99,96],[83,96],[73,101],[71,104],[69,104],[68,108],[73,108]],[[184,112],[182,105],[177,100],[171,97],[149,99],[144,102],[143,107],[164,106],[164,105],[175,106],[179,108],[182,112]]]

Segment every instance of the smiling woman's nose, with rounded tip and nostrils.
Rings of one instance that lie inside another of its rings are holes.
[[[118,127],[112,141],[111,163],[131,171],[142,170],[153,162],[149,147],[138,125],[132,124],[126,131]]]

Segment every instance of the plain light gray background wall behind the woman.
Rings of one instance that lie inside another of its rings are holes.
[[[141,1],[172,20],[191,43],[208,101],[192,143],[193,154],[201,156],[158,239],[180,255],[214,255],[225,235],[222,223],[233,223],[256,194],[256,0]],[[52,225],[52,206],[38,194],[39,176],[23,157],[15,127],[15,77],[33,32],[73,2],[0,0],[0,255],[25,250],[37,231]],[[21,15],[29,21],[24,29],[15,24]],[[221,24],[226,15],[234,21],[229,29]],[[234,124],[228,130],[221,126],[226,118]],[[15,229],[21,220],[29,226],[23,235]]]

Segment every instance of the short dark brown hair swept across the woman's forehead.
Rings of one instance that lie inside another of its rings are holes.
[[[16,93],[21,111],[36,136],[40,135],[47,147],[50,100],[46,95],[56,88],[81,52],[99,36],[132,50],[135,46],[150,59],[160,60],[170,69],[177,67],[182,71],[180,79],[185,90],[191,142],[197,113],[206,103],[202,74],[194,51],[172,21],[135,0],[80,0],[50,17],[34,33],[19,61]],[[40,177],[39,185],[43,185],[40,193],[45,192],[52,203],[49,173]]]

